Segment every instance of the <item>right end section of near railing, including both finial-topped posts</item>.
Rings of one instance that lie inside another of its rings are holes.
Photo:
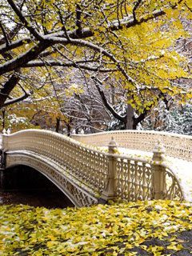
[[[151,159],[113,154],[117,149],[114,138],[111,142],[108,154],[110,182],[102,192],[102,198],[110,199],[114,195],[128,201],[186,199],[177,175],[166,164],[165,148],[161,142],[154,147]]]

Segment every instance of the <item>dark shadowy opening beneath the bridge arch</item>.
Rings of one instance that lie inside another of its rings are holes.
[[[0,192],[3,202],[47,208],[74,206],[54,182],[30,166],[14,165],[1,170]]]

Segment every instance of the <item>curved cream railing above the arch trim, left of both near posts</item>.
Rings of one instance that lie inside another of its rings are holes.
[[[23,150],[38,154],[65,167],[70,178],[88,184],[94,190],[106,187],[108,158],[105,153],[82,146],[71,138],[47,130],[22,130],[2,135],[4,151]]]

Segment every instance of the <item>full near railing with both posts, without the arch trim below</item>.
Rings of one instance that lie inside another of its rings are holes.
[[[163,165],[161,145],[153,150],[151,160],[115,154],[115,149],[113,139],[108,143],[108,152],[101,152],[47,130],[22,130],[2,135],[5,154],[38,155],[45,162],[54,163],[55,168],[62,166],[67,175],[78,181],[78,186],[85,185],[94,190],[101,200],[185,198],[178,179],[168,166]]]

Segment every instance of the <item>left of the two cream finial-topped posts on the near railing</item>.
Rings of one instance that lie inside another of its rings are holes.
[[[106,186],[106,190],[102,191],[101,198],[98,202],[107,202],[108,200],[113,200],[115,198],[115,174],[116,174],[116,166],[115,166],[115,158],[113,154],[117,150],[117,144],[112,137],[110,143],[108,145],[108,153],[109,155],[109,177],[108,177],[108,185]]]

